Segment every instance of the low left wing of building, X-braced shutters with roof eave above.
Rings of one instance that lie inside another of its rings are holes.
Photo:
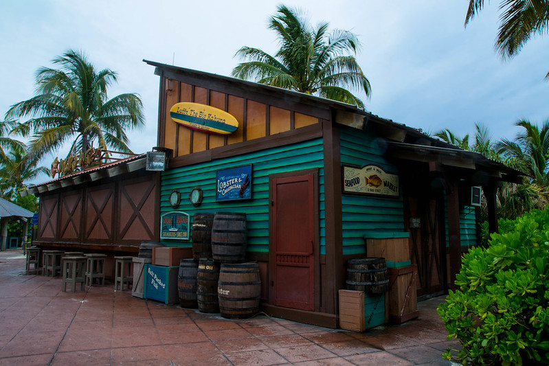
[[[115,255],[136,255],[143,240],[159,240],[160,175],[145,170],[137,155],[74,172],[30,187],[40,198],[42,249],[107,254],[107,277]]]

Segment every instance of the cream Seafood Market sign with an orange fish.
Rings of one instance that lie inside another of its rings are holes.
[[[344,193],[399,196],[399,176],[385,172],[378,165],[364,165],[362,168],[343,165],[341,170]]]

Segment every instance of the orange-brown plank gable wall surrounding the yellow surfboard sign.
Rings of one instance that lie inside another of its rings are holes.
[[[179,102],[208,104],[227,111],[238,120],[238,130],[230,135],[214,135],[181,126],[170,117],[170,108]],[[238,144],[319,123],[318,117],[171,79],[166,79],[164,113],[164,147],[174,150],[173,157]]]

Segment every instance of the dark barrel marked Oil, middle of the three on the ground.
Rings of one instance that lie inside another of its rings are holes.
[[[200,260],[197,273],[197,302],[201,312],[219,312],[218,279],[219,264],[213,260]]]

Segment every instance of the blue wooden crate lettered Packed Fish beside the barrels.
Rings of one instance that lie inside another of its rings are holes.
[[[165,304],[177,304],[177,275],[179,266],[154,266],[145,264],[145,284],[143,298],[162,301]]]

